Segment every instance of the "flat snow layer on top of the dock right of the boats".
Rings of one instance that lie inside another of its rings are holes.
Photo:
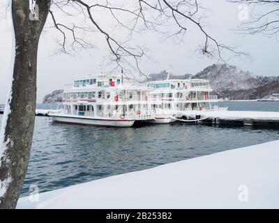
[[[187,116],[201,115],[208,118],[228,120],[269,120],[279,121],[279,112],[250,112],[250,111],[186,111]]]

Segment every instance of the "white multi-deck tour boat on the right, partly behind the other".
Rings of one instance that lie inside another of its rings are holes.
[[[206,79],[166,79],[148,84],[151,107],[156,110],[155,119],[150,123],[170,123],[189,110],[227,109],[214,105],[218,102],[217,95]],[[176,118],[174,118],[176,117]]]

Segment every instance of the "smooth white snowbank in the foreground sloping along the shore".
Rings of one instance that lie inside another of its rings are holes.
[[[271,141],[24,197],[17,208],[279,208],[278,169]]]

